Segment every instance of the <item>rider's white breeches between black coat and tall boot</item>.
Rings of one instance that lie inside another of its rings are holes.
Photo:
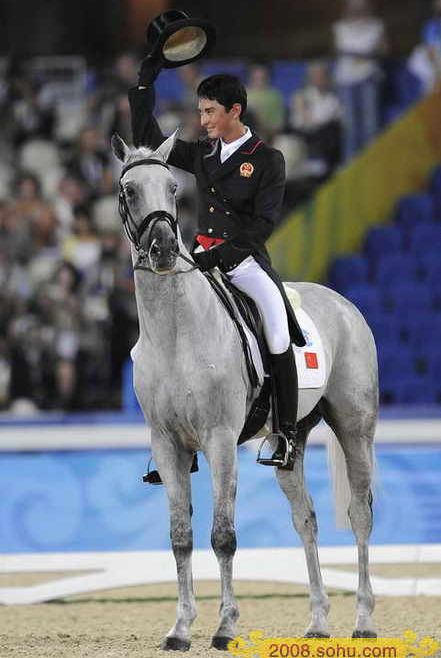
[[[282,354],[290,346],[288,318],[280,290],[253,256],[227,272],[231,282],[256,303],[271,354]]]

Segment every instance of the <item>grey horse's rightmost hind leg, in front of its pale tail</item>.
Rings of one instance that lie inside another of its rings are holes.
[[[369,410],[366,409],[369,407]],[[353,637],[377,637],[372,621],[375,599],[369,576],[368,542],[372,531],[373,439],[376,405],[323,401],[323,416],[343,449],[351,490],[348,514],[358,549],[357,617]]]

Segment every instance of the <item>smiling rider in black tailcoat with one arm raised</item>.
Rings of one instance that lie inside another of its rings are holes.
[[[153,82],[160,61],[143,60],[137,88],[129,102],[135,146],[156,149],[165,139],[153,116]],[[197,89],[201,126],[207,139],[176,140],[168,162],[196,177],[199,202],[199,247],[193,258],[202,270],[219,267],[231,282],[256,303],[263,320],[275,377],[280,428],[271,463],[292,468],[296,438],[298,385],[293,339],[304,345],[303,334],[286,299],[278,275],[271,268],[265,241],[282,206],[285,163],[282,154],[267,146],[243,123],[247,94],[232,75],[214,75]]]

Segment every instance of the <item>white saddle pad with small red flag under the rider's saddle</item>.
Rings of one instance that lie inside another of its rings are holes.
[[[288,296],[291,301],[291,295]],[[304,347],[293,345],[299,388],[321,388],[326,381],[326,362],[322,339],[311,317],[303,308],[296,308],[295,314],[306,340]],[[262,384],[265,373],[257,341],[244,322],[242,325],[250,344],[259,382]]]

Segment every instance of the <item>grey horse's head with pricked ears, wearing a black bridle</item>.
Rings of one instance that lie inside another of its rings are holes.
[[[112,137],[112,150],[124,165],[119,180],[124,228],[139,259],[157,274],[171,272],[179,254],[177,185],[167,165],[176,132],[156,151],[131,149],[119,135]]]

